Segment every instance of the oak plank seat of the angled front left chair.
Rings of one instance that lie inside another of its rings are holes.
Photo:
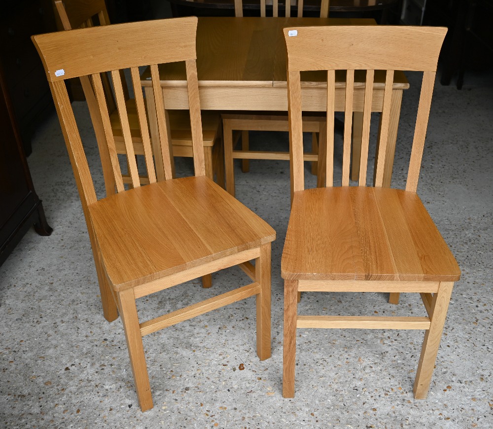
[[[88,207],[115,290],[139,286],[276,238],[271,226],[206,177],[141,186]]]

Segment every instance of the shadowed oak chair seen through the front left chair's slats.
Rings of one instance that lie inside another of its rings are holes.
[[[55,0],[55,5],[60,16],[60,20],[62,21],[64,30],[94,27],[98,24],[110,24],[104,0],[64,0],[63,2],[62,0]],[[127,152],[122,135],[122,126],[106,73],[103,73],[102,78],[110,113],[109,118],[111,122],[111,128],[113,130],[113,136],[115,137],[116,151],[119,154],[126,155]],[[134,143],[134,153],[136,155],[143,155],[141,129],[139,126],[139,119],[137,117],[135,99],[129,97],[128,86],[123,72],[121,73],[121,79],[124,90],[125,103],[129,116],[130,133],[132,135],[132,142]],[[82,82],[82,87],[87,100],[87,92],[93,90],[92,86],[89,84],[89,80],[87,80],[86,82]],[[89,109],[92,108],[94,108],[94,106],[90,104]],[[173,144],[174,156],[192,157],[192,136],[188,112],[185,110],[170,110],[169,116],[171,124],[171,141]],[[217,182],[224,187],[224,154],[223,145],[221,142],[222,133],[220,121],[221,118],[218,112],[207,110],[202,112],[202,132],[204,141],[204,156],[206,162],[206,175],[212,178],[215,172],[217,174]],[[151,142],[152,141],[153,136],[151,134]],[[162,165],[159,162],[157,163],[156,168],[158,177],[162,176]],[[112,183],[110,180],[111,168],[109,165],[106,165],[104,166],[104,169],[106,170],[106,172],[109,172],[106,175],[109,178],[107,188],[109,188],[109,195],[111,195],[111,193],[114,193],[114,183]],[[124,183],[131,184],[130,175],[126,174],[123,178]],[[146,176],[141,176],[140,182],[141,184],[149,183],[149,179]],[[206,283],[207,287],[211,286],[210,281]]]

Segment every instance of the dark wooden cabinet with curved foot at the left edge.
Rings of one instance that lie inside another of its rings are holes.
[[[0,58],[0,265],[31,226],[50,235],[18,133]]]

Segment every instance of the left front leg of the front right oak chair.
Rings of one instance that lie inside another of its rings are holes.
[[[284,280],[284,345],[282,357],[282,396],[294,397],[296,363],[296,316],[298,313],[298,281]]]

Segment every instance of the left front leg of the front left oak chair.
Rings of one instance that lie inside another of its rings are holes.
[[[149,375],[145,365],[144,347],[142,344],[141,329],[135,305],[133,289],[126,289],[117,293],[120,317],[125,330],[130,364],[134,374],[135,389],[142,411],[153,407]]]

